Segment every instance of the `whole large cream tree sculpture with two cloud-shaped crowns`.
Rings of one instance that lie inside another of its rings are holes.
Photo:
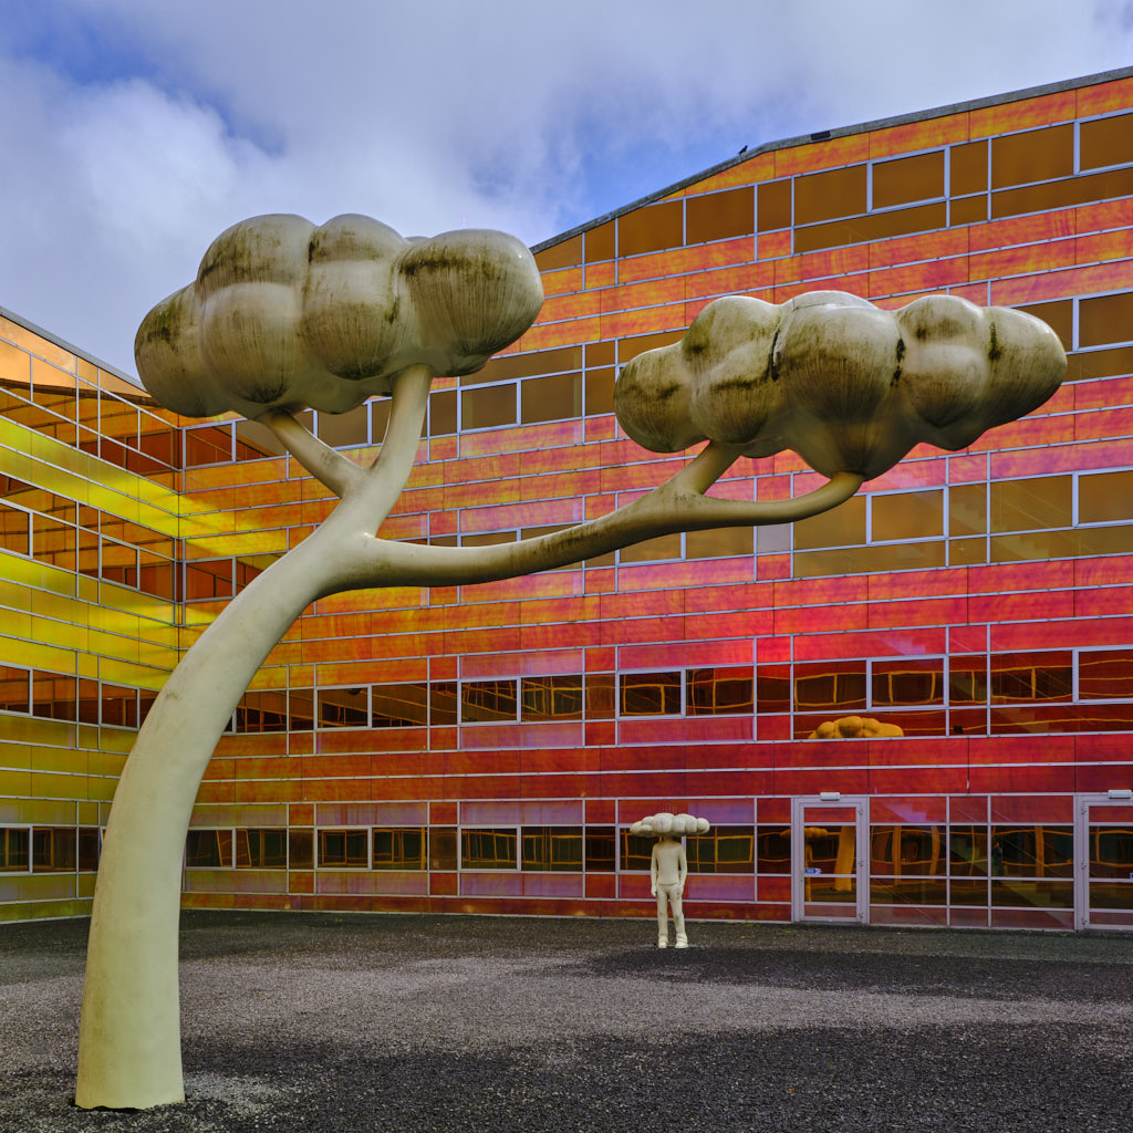
[[[1030,411],[1065,369],[1045,324],[962,299],[918,299],[896,313],[838,292],[782,306],[721,299],[679,343],[631,363],[615,387],[619,420],[646,448],[708,441],[670,480],[602,519],[518,543],[378,538],[412,469],[431,380],[478,369],[527,330],[542,301],[530,253],[500,232],[404,240],[365,216],[316,227],[282,215],[218,237],[196,280],[143,322],[138,370],[159,402],[262,421],[339,503],[216,617],[138,732],[99,869],[77,1105],[184,1100],[177,963],[189,815],[238,701],[312,602],[366,587],[484,582],[666,533],[812,516],[919,441],[963,448]],[[368,468],[293,416],[304,407],[343,412],[374,394],[392,400]],[[785,448],[827,483],[774,503],[706,495],[738,458]]]

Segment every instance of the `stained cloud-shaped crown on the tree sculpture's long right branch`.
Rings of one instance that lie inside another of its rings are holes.
[[[625,432],[654,452],[713,440],[748,457],[792,449],[825,476],[880,475],[921,441],[963,449],[1049,398],[1066,370],[1046,323],[926,296],[888,312],[841,291],[782,306],[709,304],[684,337],[614,386]]]

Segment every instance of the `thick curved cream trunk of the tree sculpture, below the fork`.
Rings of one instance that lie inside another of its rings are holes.
[[[170,675],[138,733],[114,792],[94,894],[78,1106],[185,1099],[177,979],[185,833],[236,705],[320,596],[335,526],[313,533],[233,599]]]

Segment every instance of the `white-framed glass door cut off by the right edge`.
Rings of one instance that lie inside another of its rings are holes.
[[[1133,929],[1133,799],[1080,795],[1074,819],[1077,928]]]

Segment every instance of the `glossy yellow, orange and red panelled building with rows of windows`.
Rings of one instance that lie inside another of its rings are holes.
[[[615,373],[722,295],[1021,307],[1067,382],[793,529],[317,603],[216,749],[184,903],[648,914],[625,827],[671,809],[713,823],[693,917],[1133,928],[1133,68],[768,145],[536,252],[538,322],[434,383],[383,535],[510,540],[661,483],[682,458],[619,432]],[[7,312],[0,390],[0,917],[77,915],[164,676],[330,501]],[[365,455],[383,411],[309,417]],[[904,735],[808,739],[850,715]]]

